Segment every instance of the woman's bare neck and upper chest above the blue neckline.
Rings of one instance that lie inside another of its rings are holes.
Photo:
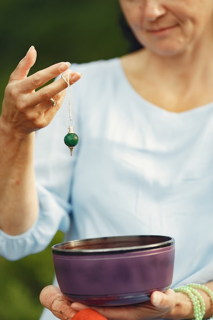
[[[136,92],[163,109],[181,112],[213,101],[213,42],[173,57],[143,49],[121,61]]]

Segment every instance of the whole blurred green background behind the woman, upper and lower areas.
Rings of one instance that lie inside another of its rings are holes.
[[[59,61],[87,62],[128,51],[119,25],[117,0],[0,0],[0,98],[10,73],[33,44],[38,58],[31,73]],[[54,277],[51,245],[11,262],[0,257],[0,319],[38,320],[41,289]],[[1,244],[0,244],[1,245]]]

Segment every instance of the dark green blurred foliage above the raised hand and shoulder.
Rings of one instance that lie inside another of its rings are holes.
[[[33,44],[32,72],[59,61],[88,62],[120,56],[127,42],[117,0],[2,0],[0,99],[10,73]]]

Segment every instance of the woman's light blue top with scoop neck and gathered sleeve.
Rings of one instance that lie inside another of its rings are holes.
[[[18,259],[65,240],[168,235],[176,240],[173,287],[213,279],[213,103],[169,112],[140,97],[119,58],[73,65],[74,131],[68,101],[36,133],[40,215],[25,234],[0,231],[0,254]],[[72,220],[72,223],[70,223]]]

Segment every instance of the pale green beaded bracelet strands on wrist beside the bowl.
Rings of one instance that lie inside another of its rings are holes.
[[[190,283],[186,286],[175,288],[174,291],[186,293],[190,297],[193,304],[193,310],[194,310],[194,316],[195,316],[194,320],[202,320],[205,314],[205,302],[201,294],[196,289],[201,289],[206,291],[206,293],[208,293],[213,303],[213,292],[208,287],[202,284]],[[212,318],[213,316],[211,316],[209,319],[212,319]]]

